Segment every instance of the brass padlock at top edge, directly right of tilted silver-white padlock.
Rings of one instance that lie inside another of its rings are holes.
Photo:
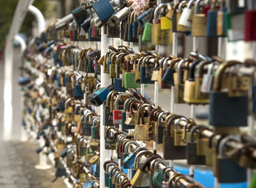
[[[207,17],[200,13],[200,0],[195,1],[195,14],[192,18],[192,36],[206,36]]]

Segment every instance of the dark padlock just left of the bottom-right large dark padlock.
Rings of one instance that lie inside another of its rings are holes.
[[[190,130],[189,141],[187,142],[187,163],[189,165],[205,165],[206,156],[197,155],[197,144],[195,142],[195,132],[197,129],[210,130],[206,125],[196,125]]]

